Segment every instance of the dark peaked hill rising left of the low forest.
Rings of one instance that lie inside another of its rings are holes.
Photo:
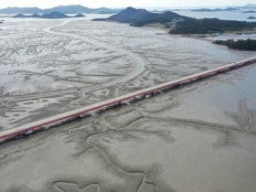
[[[108,18],[97,18],[95,21],[109,20],[123,23],[130,23],[131,26],[140,27],[151,23],[168,23],[176,20],[184,20],[187,16],[180,16],[174,12],[166,11],[165,13],[151,13],[145,9],[135,9],[127,7],[120,13]]]

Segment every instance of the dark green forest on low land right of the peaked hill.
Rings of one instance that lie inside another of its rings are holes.
[[[256,22],[219,20],[217,18],[185,19],[177,22],[171,34],[223,33],[225,31],[253,30]]]

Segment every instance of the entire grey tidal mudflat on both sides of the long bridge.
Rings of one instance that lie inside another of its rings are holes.
[[[21,21],[0,31],[3,130],[255,56],[150,27]],[[251,64],[1,144],[0,191],[255,192],[255,75]]]

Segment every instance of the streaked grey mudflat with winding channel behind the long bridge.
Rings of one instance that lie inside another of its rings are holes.
[[[0,30],[0,130],[254,54],[92,17],[6,18]]]

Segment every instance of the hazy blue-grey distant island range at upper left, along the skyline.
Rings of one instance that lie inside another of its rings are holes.
[[[60,5],[48,9],[38,7],[7,7],[0,9],[0,14],[50,14],[60,12],[63,14],[116,14],[121,9],[111,9],[106,7],[89,8],[82,5]]]

